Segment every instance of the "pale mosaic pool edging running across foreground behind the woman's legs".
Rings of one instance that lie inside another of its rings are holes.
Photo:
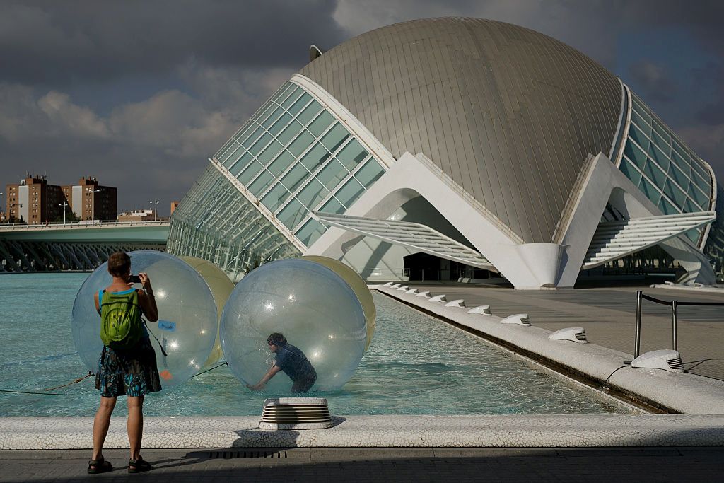
[[[258,429],[256,416],[147,417],[143,448],[585,448],[724,445],[724,416],[335,416],[334,427]],[[128,448],[111,419],[105,448]],[[0,450],[92,446],[93,418],[0,418]]]

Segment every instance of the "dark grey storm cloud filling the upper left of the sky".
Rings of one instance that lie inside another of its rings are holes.
[[[313,42],[338,43],[332,0],[4,1],[0,80],[109,80],[211,66],[303,65]]]

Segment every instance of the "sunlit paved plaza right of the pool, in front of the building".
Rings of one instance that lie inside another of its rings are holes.
[[[462,298],[466,306],[489,305],[505,317],[528,313],[531,324],[544,329],[584,327],[589,343],[633,354],[636,333],[636,290],[665,301],[724,303],[720,293],[695,290],[626,287],[584,287],[576,290],[513,290],[494,285],[424,285],[430,295],[448,301]],[[724,380],[724,307],[678,308],[678,351],[686,371]],[[641,310],[641,353],[671,348],[671,308],[644,301]]]

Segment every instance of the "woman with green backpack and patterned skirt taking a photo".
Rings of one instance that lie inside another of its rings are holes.
[[[152,469],[151,464],[140,455],[143,396],[161,390],[156,353],[140,316],[143,314],[148,322],[156,322],[159,311],[148,275],[140,273],[132,277],[130,256],[124,252],[113,253],[108,260],[108,272],[113,282],[93,295],[96,310],[101,314],[104,348],[96,374],[101,405],[93,421],[93,458],[88,461],[88,473],[106,473],[113,469],[103,456],[103,444],[116,399],[121,395],[127,396],[128,405],[128,472],[139,473]],[[132,288],[133,283],[138,282],[143,285],[143,290]],[[126,329],[127,336],[124,337],[122,331]]]

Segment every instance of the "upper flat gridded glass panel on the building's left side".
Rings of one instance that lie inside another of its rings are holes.
[[[310,93],[287,82],[214,156],[306,246],[384,169]]]

